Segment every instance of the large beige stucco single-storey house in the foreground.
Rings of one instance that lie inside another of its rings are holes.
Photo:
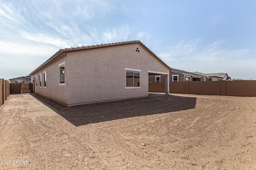
[[[64,106],[148,96],[148,76],[170,68],[141,41],[60,49],[29,75],[34,92]]]

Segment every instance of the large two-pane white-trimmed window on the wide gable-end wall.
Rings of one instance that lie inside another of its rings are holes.
[[[140,88],[140,71],[131,68],[126,69],[126,88]]]

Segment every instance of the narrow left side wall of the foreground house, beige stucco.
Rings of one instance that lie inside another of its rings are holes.
[[[65,86],[59,86],[60,84],[60,68],[58,64],[65,62],[65,80],[68,77],[68,63],[67,63],[67,55],[63,55],[61,57],[58,57],[54,61],[52,61],[50,64],[47,64],[43,68],[40,68],[40,70],[36,71],[31,76],[31,81],[34,82],[34,92],[36,94],[39,94],[41,96],[44,96],[46,98],[49,98],[51,100],[54,100],[55,102],[58,102],[60,104],[63,104],[64,106],[67,106],[68,104],[68,94],[67,94],[67,87],[68,83],[65,82]],[[46,88],[44,88],[44,71],[46,72]],[[40,87],[40,73],[42,75],[42,84]],[[37,76],[37,86],[36,86],[36,76]]]

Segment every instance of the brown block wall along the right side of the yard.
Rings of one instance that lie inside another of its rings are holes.
[[[148,83],[148,92],[164,93],[165,82]],[[256,97],[256,80],[170,82],[170,93]]]

